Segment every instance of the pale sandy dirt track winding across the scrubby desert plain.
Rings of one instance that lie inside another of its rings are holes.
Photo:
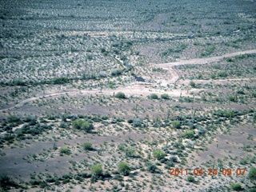
[[[162,67],[163,69],[168,70],[170,72],[171,78],[168,81],[162,80],[162,82],[165,84],[167,84],[167,83],[173,84],[178,81],[178,73],[176,70],[174,70],[172,68],[173,66],[181,66],[181,65],[186,65],[186,64],[204,65],[204,64],[209,64],[211,62],[218,62],[218,61],[222,60],[223,58],[230,58],[230,57],[234,57],[234,56],[237,56],[240,54],[256,54],[256,50],[239,51],[239,52],[235,52],[235,53],[231,53],[231,54],[223,54],[222,56],[215,56],[215,57],[211,57],[211,58],[192,58],[192,59],[188,59],[188,60],[181,60],[178,62],[167,62],[167,63],[154,64],[153,66]],[[152,92],[151,90],[146,89],[146,85],[142,85],[142,84],[140,84],[140,85],[137,84],[134,86],[120,87],[116,91],[123,91],[128,94],[142,94],[142,95],[149,94],[150,92]],[[102,92],[102,94],[113,94],[113,92],[114,92],[113,90],[104,90]],[[32,102],[39,98],[58,97],[59,95],[63,95],[63,94],[74,95],[74,94],[80,94],[80,93],[81,94],[96,94],[96,93],[99,93],[99,90],[75,90],[75,91],[66,91],[66,92],[56,93],[56,94],[47,94],[47,95],[42,95],[42,96],[38,96],[38,97],[34,97],[34,98],[27,98],[25,100],[22,100],[15,106],[11,106],[9,108],[0,110],[0,113],[2,113],[5,110],[12,110],[16,107],[21,107],[21,106],[25,105],[27,102]],[[165,91],[165,93],[167,93],[167,92]],[[172,92],[172,94],[173,94],[173,96],[179,96],[180,90],[175,93]]]

